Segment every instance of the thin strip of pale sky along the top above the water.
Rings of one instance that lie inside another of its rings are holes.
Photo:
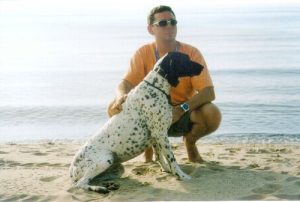
[[[156,5],[170,5],[177,10],[202,7],[237,7],[298,4],[298,0],[0,0],[0,16],[5,15],[95,15],[116,10],[144,13]]]

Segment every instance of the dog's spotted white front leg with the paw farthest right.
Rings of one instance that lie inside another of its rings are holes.
[[[156,137],[156,139],[157,139],[156,146],[157,146],[158,150],[161,150],[162,155],[167,160],[171,172],[174,175],[177,175],[180,180],[189,180],[189,179],[191,179],[191,177],[189,175],[187,175],[186,173],[184,173],[180,169],[180,167],[179,167],[179,165],[178,165],[178,163],[175,159],[175,156],[172,152],[171,144],[170,144],[169,139],[166,135],[167,133],[164,133],[164,134],[157,133],[157,134],[158,135]]]

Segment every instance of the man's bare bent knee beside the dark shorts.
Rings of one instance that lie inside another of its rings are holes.
[[[212,133],[217,130],[221,123],[221,119],[221,111],[213,103],[207,103],[194,110],[191,114],[192,123],[195,124],[195,126],[199,125],[200,128],[205,127],[206,134]]]

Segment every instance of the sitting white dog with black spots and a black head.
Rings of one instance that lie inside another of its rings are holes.
[[[75,155],[70,176],[75,187],[99,193],[113,190],[109,184],[92,186],[89,182],[108,168],[128,161],[153,146],[162,170],[180,180],[191,177],[179,167],[167,132],[172,122],[169,91],[180,77],[199,75],[203,66],[183,53],[170,52],[136,86],[122,104],[123,110],[91,137]],[[115,187],[116,188],[116,187]]]

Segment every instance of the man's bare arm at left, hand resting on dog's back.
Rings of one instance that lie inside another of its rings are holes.
[[[116,98],[109,104],[107,113],[109,117],[122,111],[122,104],[127,98],[127,94],[133,89],[133,85],[126,80],[122,80],[117,87]]]

